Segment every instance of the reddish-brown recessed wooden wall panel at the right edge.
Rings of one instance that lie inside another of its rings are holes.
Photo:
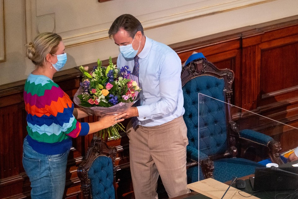
[[[259,45],[261,49],[260,105],[272,102],[277,95],[283,95],[283,100],[295,97],[298,89],[298,78],[294,78],[298,74],[298,35],[270,43]]]

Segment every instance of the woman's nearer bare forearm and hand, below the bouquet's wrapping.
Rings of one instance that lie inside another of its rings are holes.
[[[88,134],[100,131],[102,129],[111,127],[112,125],[115,125],[118,122],[124,121],[126,113],[122,113],[120,115],[111,115],[111,116],[104,116],[100,117],[97,122],[89,123],[89,132]]]

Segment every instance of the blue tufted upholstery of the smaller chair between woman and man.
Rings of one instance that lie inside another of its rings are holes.
[[[98,156],[88,170],[88,178],[92,186],[92,198],[115,199],[114,173],[111,158],[103,155]]]

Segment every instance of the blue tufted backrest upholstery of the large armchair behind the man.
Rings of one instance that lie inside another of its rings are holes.
[[[204,104],[198,104],[198,93],[224,101],[223,89],[223,79],[212,76],[196,77],[182,88],[185,109],[183,118],[187,126],[188,146],[198,149],[200,139],[200,152],[208,156],[227,150],[225,107],[224,103],[218,103],[208,97],[205,98]],[[200,106],[200,117],[198,117],[198,106]],[[199,123],[200,137],[198,137]]]

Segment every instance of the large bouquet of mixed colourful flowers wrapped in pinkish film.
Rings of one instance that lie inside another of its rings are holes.
[[[88,66],[80,66],[83,73],[80,88],[75,93],[74,102],[88,113],[96,116],[117,115],[127,110],[136,100],[138,92],[138,78],[130,74],[128,66],[118,71],[109,59],[109,66],[103,67],[102,61],[97,60],[97,66],[92,72],[88,72]],[[105,138],[107,135],[119,139],[119,130],[124,131],[121,123],[103,129],[99,136]]]

